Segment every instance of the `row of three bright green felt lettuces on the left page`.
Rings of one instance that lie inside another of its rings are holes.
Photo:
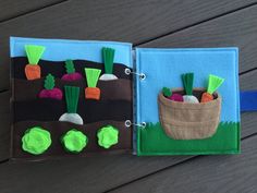
[[[112,125],[100,128],[97,132],[98,145],[110,148],[119,142],[119,130]],[[88,144],[88,137],[76,129],[71,129],[61,136],[63,148],[70,153],[81,153]],[[25,131],[22,137],[22,149],[33,154],[44,154],[50,146],[51,134],[44,128],[34,126]]]

